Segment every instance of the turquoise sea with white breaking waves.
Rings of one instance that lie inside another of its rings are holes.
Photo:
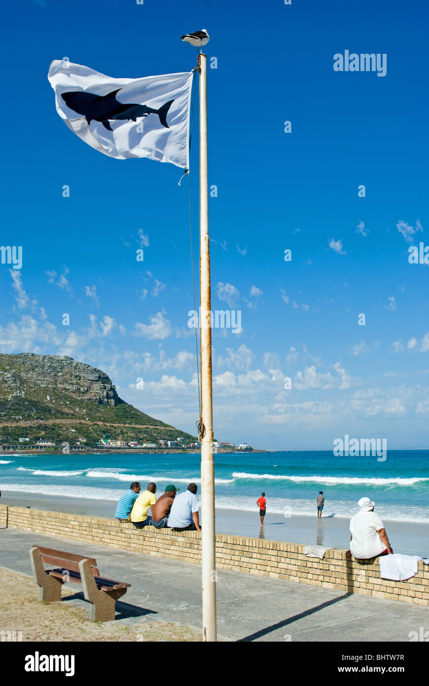
[[[173,482],[199,484],[200,456],[188,454],[82,454],[0,459],[0,490],[38,495],[116,501],[132,481],[156,482],[158,493]],[[323,514],[351,517],[368,496],[384,519],[429,523],[429,451],[389,451],[376,457],[334,457],[332,451],[218,453],[215,455],[216,506],[254,512],[262,490],[267,512],[314,517],[319,490]]]

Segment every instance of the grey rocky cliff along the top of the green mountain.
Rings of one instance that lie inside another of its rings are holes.
[[[116,388],[99,369],[66,355],[0,355],[1,395],[25,395],[32,388],[64,392],[99,405],[119,405]]]

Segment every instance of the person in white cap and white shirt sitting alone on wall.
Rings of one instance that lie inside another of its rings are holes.
[[[355,558],[367,560],[380,555],[391,555],[389,539],[381,517],[374,512],[374,502],[360,498],[359,512],[350,521],[350,552]]]

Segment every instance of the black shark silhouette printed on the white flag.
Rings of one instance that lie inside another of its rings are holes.
[[[108,131],[112,131],[109,120],[132,119],[132,121],[137,121],[138,117],[149,117],[149,115],[158,115],[162,126],[170,128],[167,124],[167,114],[174,100],[169,100],[159,110],[154,110],[147,105],[119,102],[116,96],[121,90],[118,88],[117,91],[112,91],[108,95],[95,95],[95,93],[87,93],[86,91],[69,91],[68,93],[61,93],[61,97],[67,107],[79,115],[84,115],[88,125],[93,119],[101,121]]]

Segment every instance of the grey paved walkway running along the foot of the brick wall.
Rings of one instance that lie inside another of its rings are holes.
[[[34,544],[95,557],[103,576],[130,582],[116,622],[147,616],[201,628],[199,565],[0,529],[0,567],[31,575]],[[66,602],[84,602],[81,586],[69,589],[79,595]],[[218,571],[217,616],[227,641],[409,641],[408,632],[429,627],[429,608],[226,569]]]

